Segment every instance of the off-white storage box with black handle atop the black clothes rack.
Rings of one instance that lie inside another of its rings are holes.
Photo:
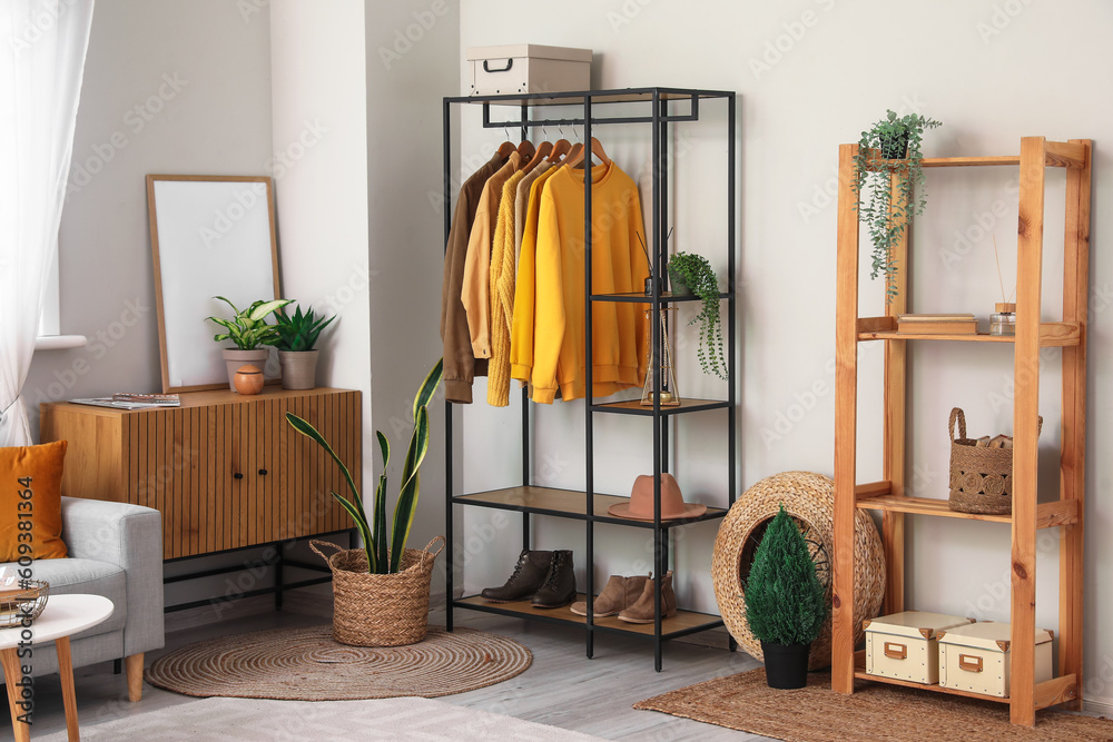
[[[591,49],[519,43],[467,50],[464,95],[563,92],[591,87]]]

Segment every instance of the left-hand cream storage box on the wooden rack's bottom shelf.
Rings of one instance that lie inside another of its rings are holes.
[[[905,611],[863,623],[866,673],[932,685],[939,682],[939,633],[972,619]]]

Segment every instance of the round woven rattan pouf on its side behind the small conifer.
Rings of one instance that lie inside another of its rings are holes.
[[[742,602],[742,581],[754,563],[754,553],[769,521],[785,505],[804,532],[819,580],[831,596],[831,565],[835,554],[835,483],[811,472],[784,472],[761,479],[731,506],[719,526],[711,558],[711,578],[719,612],[727,631],[747,653],[762,660],[761,642],[750,633]],[[877,527],[869,515],[858,511],[854,527],[854,625],[855,644],[861,641],[861,622],[874,619],[885,596],[885,553]],[[830,619],[811,645],[809,666],[826,667],[831,661]]]

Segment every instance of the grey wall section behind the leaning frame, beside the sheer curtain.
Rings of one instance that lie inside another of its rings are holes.
[[[144,177],[266,174],[268,13],[244,7],[97,3],[59,236],[61,332],[89,345],[35,355],[35,435],[42,402],[161,389]]]

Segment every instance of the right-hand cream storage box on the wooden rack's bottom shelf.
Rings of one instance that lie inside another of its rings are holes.
[[[1007,699],[1012,664],[1009,631],[1007,623],[983,621],[939,633],[939,685]],[[1050,631],[1036,631],[1037,683],[1053,676],[1052,639]]]

